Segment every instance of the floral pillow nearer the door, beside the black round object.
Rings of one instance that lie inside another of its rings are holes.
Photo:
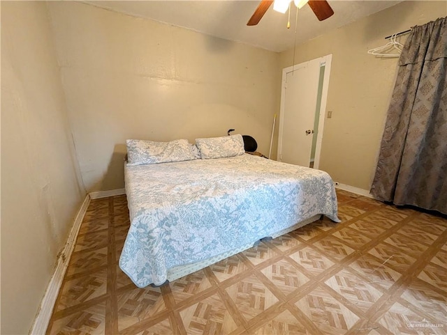
[[[242,135],[196,139],[196,146],[203,159],[233,157],[245,153]]]

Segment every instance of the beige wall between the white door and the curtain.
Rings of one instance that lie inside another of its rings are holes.
[[[444,1],[404,1],[358,22],[297,46],[295,64],[332,54],[332,70],[320,169],[332,179],[369,190],[397,59],[378,59],[367,50],[383,38],[447,15]],[[402,38],[402,41],[404,38]],[[280,68],[293,64],[293,49],[281,53]]]

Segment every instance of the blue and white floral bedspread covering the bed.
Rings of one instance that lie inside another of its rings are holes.
[[[252,155],[126,166],[131,227],[119,267],[142,288],[167,270],[281,231],[314,215],[337,218],[323,171]]]

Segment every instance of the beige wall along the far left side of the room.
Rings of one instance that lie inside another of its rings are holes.
[[[1,334],[27,334],[83,187],[44,2],[1,2]]]

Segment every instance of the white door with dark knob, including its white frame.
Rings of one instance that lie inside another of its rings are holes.
[[[309,166],[314,151],[312,164],[318,169],[330,72],[328,61],[330,55],[283,70],[277,157],[281,162]]]

